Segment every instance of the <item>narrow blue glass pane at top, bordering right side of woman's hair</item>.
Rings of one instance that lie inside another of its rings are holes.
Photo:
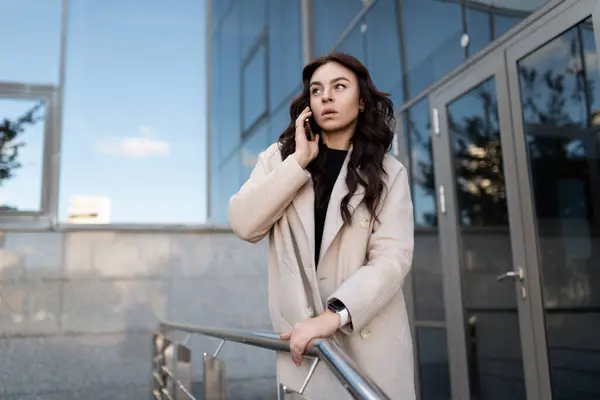
[[[396,0],[378,0],[369,10],[366,22],[367,68],[377,88],[390,93],[394,104],[399,105],[404,95]]]

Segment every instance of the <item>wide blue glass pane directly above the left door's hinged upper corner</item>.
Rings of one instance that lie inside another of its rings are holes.
[[[464,61],[460,2],[404,0],[401,23],[410,96]],[[435,27],[435,29],[431,29]]]

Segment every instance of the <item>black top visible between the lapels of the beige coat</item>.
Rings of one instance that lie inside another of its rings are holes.
[[[319,153],[319,157],[325,157],[325,176],[322,195],[315,194],[315,265],[319,263],[323,226],[325,225],[325,216],[327,215],[331,191],[348,154],[347,150],[336,150],[326,147],[322,148],[321,151],[323,153]]]

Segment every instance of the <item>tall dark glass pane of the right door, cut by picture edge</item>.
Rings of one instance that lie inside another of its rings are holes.
[[[518,63],[552,390],[600,397],[600,123],[590,21]]]

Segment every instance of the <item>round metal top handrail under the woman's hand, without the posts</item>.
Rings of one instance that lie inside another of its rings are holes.
[[[289,342],[281,340],[272,332],[258,332],[242,329],[220,329],[197,325],[178,324],[160,321],[160,329],[182,331],[210,336],[225,341],[243,343],[254,347],[278,352],[290,352]],[[307,356],[317,357],[334,372],[344,388],[356,400],[389,400],[389,397],[370,378],[365,376],[333,340],[319,340],[307,350]],[[310,378],[310,375],[309,377]]]

